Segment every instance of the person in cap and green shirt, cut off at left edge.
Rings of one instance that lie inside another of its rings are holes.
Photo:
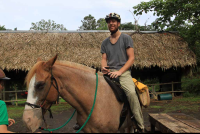
[[[10,78],[5,76],[3,70],[0,69],[0,91],[4,89],[4,80]],[[12,126],[15,120],[8,118],[8,112],[4,101],[0,100],[0,133],[13,133],[8,131],[8,127]]]

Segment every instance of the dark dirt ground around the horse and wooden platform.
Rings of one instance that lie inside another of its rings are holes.
[[[169,106],[167,104],[173,103],[172,101],[151,101],[152,106]],[[196,119],[200,120],[200,102],[196,102],[198,103],[197,105],[199,106],[197,111],[188,111],[188,110],[176,110],[176,111],[170,111],[171,113],[185,113],[186,115],[192,116]],[[172,104],[173,105],[173,104]],[[170,106],[172,106],[170,105]],[[177,105],[176,103],[174,105]],[[180,104],[181,105],[181,104]],[[144,123],[145,123],[145,128],[146,128],[146,132],[148,133],[150,130],[150,122],[149,122],[149,113],[162,113],[165,110],[165,108],[143,108],[143,116],[144,116]],[[53,119],[49,119],[49,114],[47,113],[45,118],[46,121],[48,122],[49,128],[57,128],[62,126],[72,115],[72,113],[74,112],[73,108],[70,108],[68,110],[59,112],[59,113],[54,113]],[[12,127],[9,128],[10,131],[13,132],[19,132],[19,133],[27,133],[28,131],[26,130],[25,126],[22,123],[22,119],[21,118],[17,118],[16,120],[16,124],[14,124]],[[72,118],[72,120],[62,129],[54,131],[54,133],[75,133],[76,131],[73,130],[73,125],[75,125],[76,123],[76,114],[74,115],[74,117]],[[42,132],[42,133],[48,133],[46,131],[37,131],[37,132]],[[158,130],[156,132],[159,132]]]

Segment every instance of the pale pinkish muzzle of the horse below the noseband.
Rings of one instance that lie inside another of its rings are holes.
[[[23,122],[28,130],[35,132],[42,124],[42,109],[25,109],[23,113]]]

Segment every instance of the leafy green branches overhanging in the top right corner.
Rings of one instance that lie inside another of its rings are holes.
[[[188,20],[194,25],[199,22],[199,0],[151,0],[141,2],[133,8],[136,15],[153,11],[154,15],[159,17],[156,22],[159,27],[162,24],[167,25],[167,23],[170,27],[179,27]],[[172,20],[172,17],[175,19]]]

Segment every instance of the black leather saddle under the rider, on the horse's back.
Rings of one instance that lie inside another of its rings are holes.
[[[128,114],[128,110],[129,110],[129,102],[128,99],[126,97],[126,94],[124,92],[124,90],[121,87],[121,84],[119,82],[119,77],[117,78],[110,78],[109,75],[103,75],[104,79],[107,81],[107,83],[110,85],[110,87],[112,88],[117,100],[120,103],[124,103],[123,109],[121,111],[121,115],[120,115],[120,124],[119,124],[119,129],[122,126],[122,124],[124,123],[126,116]]]

